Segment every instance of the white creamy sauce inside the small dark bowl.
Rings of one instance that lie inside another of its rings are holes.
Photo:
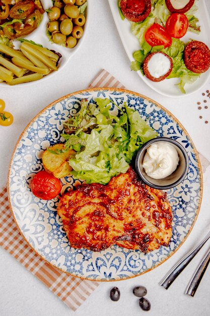
[[[143,159],[146,174],[153,179],[163,179],[172,174],[179,163],[177,150],[165,142],[148,147]]]

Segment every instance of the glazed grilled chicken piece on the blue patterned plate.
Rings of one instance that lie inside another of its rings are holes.
[[[168,245],[172,210],[166,193],[137,179],[130,167],[107,185],[83,184],[57,207],[74,248],[101,251],[117,244],[144,252]]]

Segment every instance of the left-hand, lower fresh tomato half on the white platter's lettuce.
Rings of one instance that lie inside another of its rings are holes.
[[[154,23],[145,33],[145,40],[153,46],[164,45],[164,48],[169,47],[172,43],[171,36],[166,29],[160,24]]]

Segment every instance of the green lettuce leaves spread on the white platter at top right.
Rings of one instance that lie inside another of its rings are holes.
[[[200,27],[197,26],[198,19],[194,16],[197,9],[197,6],[194,4],[185,14],[189,23],[188,31],[194,33],[200,32]],[[138,23],[131,22],[131,32],[138,38],[141,49],[133,52],[134,61],[131,62],[130,68],[134,71],[141,70],[144,75],[143,63],[149,52],[165,52],[165,54],[169,55],[173,60],[173,69],[167,79],[180,78],[180,82],[177,86],[182,93],[185,93],[185,84],[194,82],[200,76],[200,74],[195,74],[188,70],[184,64],[183,52],[186,44],[180,39],[172,38],[172,44],[168,48],[164,48],[164,46],[152,47],[145,40],[146,30],[154,23],[165,26],[170,14],[166,7],[165,0],[152,0],[152,11],[150,15],[144,21]]]

